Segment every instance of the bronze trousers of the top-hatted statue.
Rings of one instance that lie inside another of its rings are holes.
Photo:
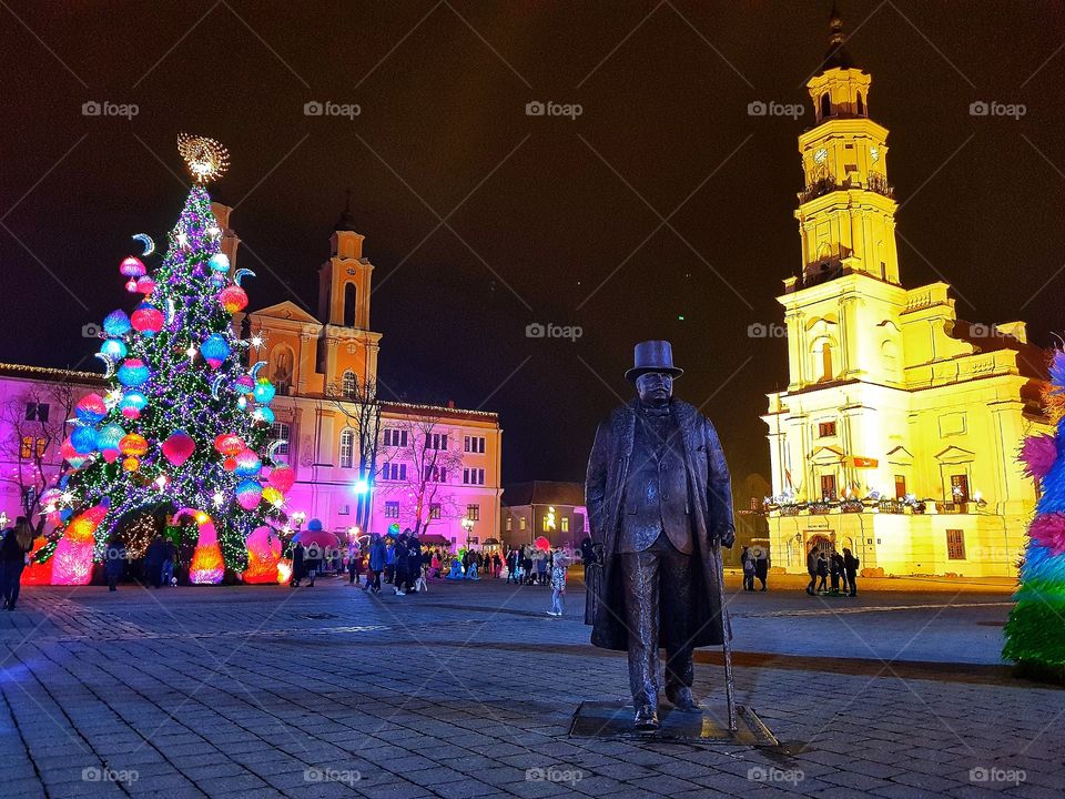
[[[678,552],[665,534],[647,549],[622,553],[625,624],[629,636],[632,701],[658,706],[658,651],[666,648],[666,690],[691,687],[691,555]]]

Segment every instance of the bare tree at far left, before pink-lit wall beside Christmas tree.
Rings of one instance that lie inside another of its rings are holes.
[[[23,515],[32,519],[41,509],[41,494],[62,474],[60,446],[73,415],[77,391],[69,383],[32,385],[0,407],[0,421],[10,437],[0,441],[0,456],[13,468],[0,481],[19,490]],[[38,529],[43,526],[41,516]]]

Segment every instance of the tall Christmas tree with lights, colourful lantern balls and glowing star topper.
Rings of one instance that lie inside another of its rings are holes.
[[[133,236],[143,252],[120,271],[140,302],[106,316],[97,355],[110,391],[78,403],[62,449],[71,471],[42,497],[61,535],[36,560],[51,564],[57,585],[88,583],[113,535],[161,533],[145,523],[161,515],[195,530],[191,581],[220,583],[226,569],[277,579],[276,530],[294,475],[270,461],[274,387],[258,376],[262,342],[242,340],[233,320],[247,305],[241,282],[254,273],[233,273],[205,189],[229,155],[184,134],[179,151],[195,183],[156,269],[142,260],[152,240]]]

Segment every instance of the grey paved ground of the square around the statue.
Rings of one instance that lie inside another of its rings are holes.
[[[627,692],[579,590],[556,619],[488,580],[27,588],[0,614],[0,797],[1065,793],[1065,692],[998,663],[1008,595],[730,593],[738,695],[779,748],[568,737]],[[696,671],[721,694],[719,653]]]

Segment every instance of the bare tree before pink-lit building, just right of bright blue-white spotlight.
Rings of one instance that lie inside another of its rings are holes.
[[[462,516],[449,486],[463,467],[463,453],[440,416],[415,414],[389,423],[388,428],[378,486],[384,495],[414,500],[413,505],[400,500],[400,518],[410,522],[405,526],[420,535],[435,520]]]

